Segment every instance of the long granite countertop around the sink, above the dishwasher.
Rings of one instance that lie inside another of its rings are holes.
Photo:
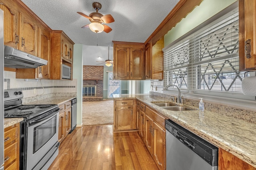
[[[137,98],[164,117],[175,121],[210,143],[256,167],[256,124],[212,111],[169,111],[151,102],[168,101],[158,96],[130,94],[119,98]],[[185,104],[183,105],[185,107]]]

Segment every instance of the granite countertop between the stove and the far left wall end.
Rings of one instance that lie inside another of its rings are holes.
[[[61,96],[61,97],[51,97],[51,98],[46,98],[42,100],[37,100],[35,102],[29,102],[26,103],[26,105],[31,105],[31,104],[58,104],[58,106],[61,106],[62,104],[76,98],[76,96]]]

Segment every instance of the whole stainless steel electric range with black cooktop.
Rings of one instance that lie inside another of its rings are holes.
[[[22,90],[4,90],[4,118],[20,122],[20,170],[47,170],[58,155],[58,105],[22,105]]]

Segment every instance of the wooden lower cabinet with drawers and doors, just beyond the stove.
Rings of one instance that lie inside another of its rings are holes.
[[[71,102],[59,106],[58,141],[61,143],[71,130]]]

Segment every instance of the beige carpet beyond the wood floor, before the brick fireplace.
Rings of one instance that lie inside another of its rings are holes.
[[[82,125],[112,125],[114,122],[114,100],[83,102]]]

